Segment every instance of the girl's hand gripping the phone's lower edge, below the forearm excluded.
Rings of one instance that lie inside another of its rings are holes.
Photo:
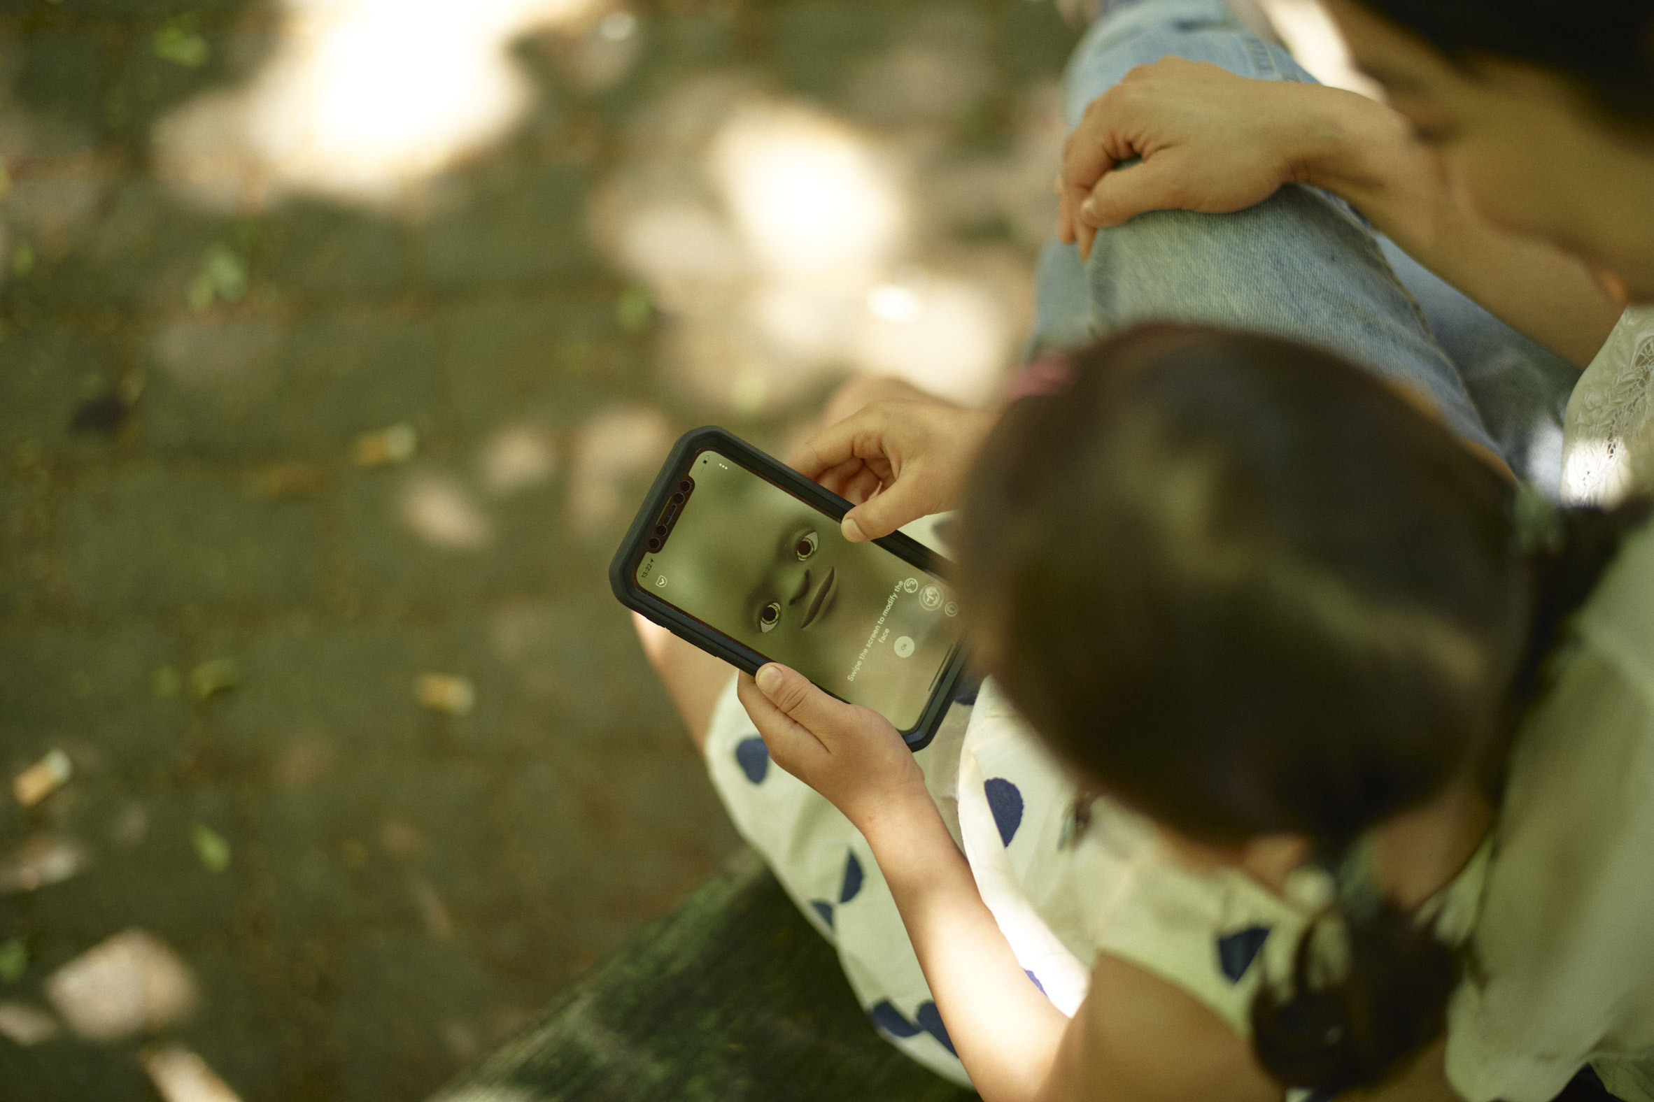
[[[880,815],[930,805],[913,752],[873,709],[837,701],[776,663],[756,681],[741,674],[736,694],[776,765],[827,796],[863,834]]]

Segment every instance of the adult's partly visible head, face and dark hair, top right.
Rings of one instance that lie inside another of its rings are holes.
[[[1365,69],[1492,221],[1654,301],[1654,8],[1333,0]]]

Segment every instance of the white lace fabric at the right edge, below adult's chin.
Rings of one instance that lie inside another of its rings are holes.
[[[1632,306],[1585,368],[1563,425],[1563,502],[1654,489],[1654,306]]]

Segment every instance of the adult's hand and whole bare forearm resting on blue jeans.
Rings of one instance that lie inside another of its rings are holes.
[[[1143,160],[1116,167],[1131,157]],[[1150,210],[1244,210],[1284,183],[1341,197],[1421,264],[1580,367],[1624,309],[1578,259],[1467,208],[1384,104],[1183,58],[1131,69],[1085,109],[1064,147],[1057,233],[1090,256],[1098,228]]]

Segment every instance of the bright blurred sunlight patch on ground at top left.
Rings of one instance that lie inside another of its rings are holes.
[[[289,192],[397,205],[533,96],[506,53],[595,0],[284,0],[275,56],[155,127],[164,178],[220,210]],[[622,36],[625,38],[625,36]]]

